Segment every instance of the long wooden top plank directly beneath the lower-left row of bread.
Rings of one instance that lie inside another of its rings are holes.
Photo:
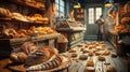
[[[23,44],[24,42],[37,42],[37,41],[43,41],[43,40],[50,40],[55,39],[60,35],[60,33],[52,33],[52,34],[44,34],[44,35],[38,35],[38,37],[28,37],[28,38],[17,38],[17,39],[0,39],[1,42],[9,42],[11,45],[18,45]],[[0,44],[2,45],[2,44]],[[8,44],[6,44],[8,45]]]

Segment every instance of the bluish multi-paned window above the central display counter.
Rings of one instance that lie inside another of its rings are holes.
[[[56,17],[64,17],[64,13],[65,13],[65,4],[63,0],[55,0],[56,3]]]

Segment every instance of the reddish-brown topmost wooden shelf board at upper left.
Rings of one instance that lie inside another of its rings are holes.
[[[46,5],[44,5],[44,8],[41,8],[40,5],[36,6],[36,4],[24,2],[22,0],[9,0],[9,1],[11,1],[13,3],[16,3],[16,4],[20,4],[20,5],[28,6],[28,8],[38,10],[38,11],[44,11],[46,10]]]

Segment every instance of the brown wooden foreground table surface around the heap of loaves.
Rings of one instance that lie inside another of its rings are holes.
[[[70,63],[72,63],[70,59],[67,56],[63,55],[63,62],[60,67],[42,72],[63,71],[65,69],[67,69],[68,71],[68,67],[70,66]],[[0,60],[0,72],[26,72],[26,69],[24,63],[13,63],[9,58],[5,58]]]

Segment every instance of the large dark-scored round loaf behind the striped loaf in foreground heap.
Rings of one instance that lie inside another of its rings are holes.
[[[44,46],[42,48],[38,48],[35,53],[28,55],[26,60],[27,66],[39,64],[50,60],[51,58],[55,58],[57,56],[57,51],[51,46]]]

